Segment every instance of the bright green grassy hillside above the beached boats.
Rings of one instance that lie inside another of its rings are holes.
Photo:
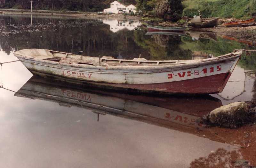
[[[185,0],[183,16],[193,17],[198,11],[203,17],[239,18],[256,16],[255,0]]]

